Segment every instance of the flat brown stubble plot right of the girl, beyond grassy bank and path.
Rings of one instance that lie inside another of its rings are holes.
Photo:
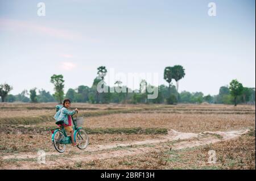
[[[224,131],[255,127],[255,115],[200,115],[170,113],[122,113],[88,117],[84,127],[150,127],[168,128],[181,132]]]

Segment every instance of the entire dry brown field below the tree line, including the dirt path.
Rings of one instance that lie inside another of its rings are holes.
[[[255,169],[255,106],[74,103],[85,150],[51,142],[55,103],[0,103],[0,169]],[[37,151],[46,151],[46,164]],[[208,151],[216,163],[208,163]]]

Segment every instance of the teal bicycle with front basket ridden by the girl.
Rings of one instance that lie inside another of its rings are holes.
[[[78,112],[76,112],[77,115]],[[88,134],[82,129],[82,127],[77,127],[77,116],[73,119],[73,131],[74,131],[74,141],[78,143],[77,148],[86,149],[89,144]],[[72,144],[71,136],[67,135],[64,129],[64,121],[57,121],[57,125],[61,125],[60,128],[51,129],[52,132],[52,142],[54,148],[59,152],[63,153],[66,149],[67,144]]]

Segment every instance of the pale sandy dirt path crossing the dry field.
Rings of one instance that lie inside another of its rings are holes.
[[[3,160],[7,159],[20,159],[19,166],[16,165],[6,165],[0,167],[0,169],[44,169],[46,167],[58,166],[58,165],[73,165],[75,162],[90,162],[97,159],[107,159],[115,157],[125,157],[138,154],[146,154],[152,151],[160,151],[160,148],[163,148],[163,145],[158,145],[161,142],[172,141],[172,149],[184,149],[192,148],[200,145],[213,144],[218,141],[230,140],[236,137],[241,136],[249,132],[249,129],[243,129],[238,131],[230,132],[203,132],[203,133],[183,133],[177,132],[175,130],[170,130],[166,136],[162,136],[157,140],[144,140],[144,141],[135,141],[127,142],[125,144],[108,144],[108,145],[96,145],[88,146],[86,150],[76,150],[75,155],[70,155],[69,150],[67,149],[65,153],[57,152],[47,152],[47,157],[54,157],[52,161],[46,161],[45,164],[39,164],[36,161],[26,161],[26,159],[36,159],[37,155],[35,153],[26,153],[26,154],[14,154],[14,155],[5,155],[2,157]],[[176,141],[176,142],[175,142]],[[151,146],[148,146],[151,145]],[[152,147],[154,145],[154,147]],[[141,147],[139,147],[141,146]],[[116,150],[117,148],[121,148]],[[104,153],[93,153],[95,151],[105,150]],[[90,151],[90,154],[88,154]],[[65,157],[68,155],[68,157]],[[64,157],[63,157],[64,156]]]

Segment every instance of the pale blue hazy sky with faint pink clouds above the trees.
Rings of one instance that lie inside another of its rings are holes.
[[[0,84],[11,94],[53,93],[53,74],[63,74],[65,92],[92,86],[102,65],[108,74],[156,73],[152,85],[168,85],[164,68],[182,65],[179,91],[205,95],[232,79],[255,87],[255,1],[0,0]]]

